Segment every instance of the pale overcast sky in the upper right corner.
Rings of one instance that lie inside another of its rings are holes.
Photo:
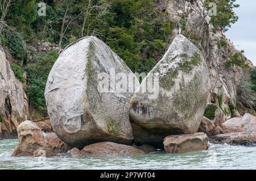
[[[226,32],[237,49],[245,50],[246,57],[256,65],[256,1],[237,0],[240,5],[235,9],[238,22]]]

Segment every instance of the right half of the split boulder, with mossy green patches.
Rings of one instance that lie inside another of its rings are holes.
[[[140,91],[148,86],[153,74],[159,74],[156,98],[150,92]],[[135,144],[159,147],[166,136],[196,133],[209,96],[208,81],[207,65],[200,50],[184,36],[176,36],[130,100]]]

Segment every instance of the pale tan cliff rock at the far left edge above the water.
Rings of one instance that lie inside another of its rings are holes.
[[[27,96],[0,47],[0,139],[16,138],[17,128],[29,118]]]

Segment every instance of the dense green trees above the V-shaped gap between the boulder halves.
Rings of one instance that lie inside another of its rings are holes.
[[[132,71],[150,71],[162,58],[172,32],[166,14],[152,0],[115,0],[114,19],[107,36],[110,46]],[[155,60],[155,61],[154,61]]]

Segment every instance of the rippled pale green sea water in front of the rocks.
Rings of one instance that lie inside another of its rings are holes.
[[[140,157],[11,157],[18,140],[0,140],[0,169],[256,169],[256,146],[210,144],[205,151]]]

